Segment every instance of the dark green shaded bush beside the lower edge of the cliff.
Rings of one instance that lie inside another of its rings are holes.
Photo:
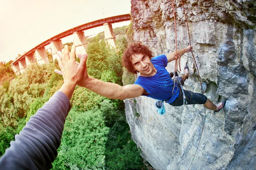
[[[106,165],[108,170],[140,169],[143,167],[141,151],[131,140],[130,127],[125,116],[120,117],[111,128],[106,143]]]

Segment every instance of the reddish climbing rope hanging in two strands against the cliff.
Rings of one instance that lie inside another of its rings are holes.
[[[187,25],[187,29],[188,29],[188,35],[189,35],[189,45],[191,46],[191,40],[190,40],[190,34],[189,34],[189,25],[188,25],[188,21],[187,21],[187,17],[186,17],[186,11],[185,11],[185,8],[184,8],[184,4],[183,4],[183,0],[181,0],[181,3],[182,3],[182,7],[183,7],[183,10],[184,10],[184,16],[185,16],[185,19],[186,19],[186,25]],[[174,24],[175,24],[175,45],[176,45],[176,51],[175,53],[177,54],[177,30],[176,30],[176,20],[175,20],[175,10],[174,10],[174,4],[173,4],[173,0],[172,0],[172,10],[173,10],[173,16],[174,16]],[[192,53],[192,56],[193,56],[193,59],[194,59],[194,62],[195,62],[195,68],[197,69],[198,71],[198,77],[199,77],[199,81],[200,81],[200,85],[201,85],[201,93],[204,94],[203,92],[203,86],[202,86],[202,82],[201,82],[201,77],[200,77],[200,74],[199,74],[199,70],[198,70],[198,65],[197,65],[197,62],[195,60],[195,57],[194,57],[194,54],[193,52],[191,51]],[[179,66],[180,66],[180,56],[179,56]],[[175,58],[175,71],[177,71],[177,59]],[[205,124],[205,119],[206,119],[206,110],[205,110],[205,106],[204,106],[204,124]],[[199,142],[198,142],[198,146],[196,148],[196,151],[195,151],[195,155],[198,151],[198,147],[199,147],[199,144],[200,144],[200,141],[201,141],[201,137],[202,137],[202,134],[203,134],[203,130],[204,130],[204,124],[203,124],[203,127],[202,127],[202,132],[201,132],[201,135],[200,135],[200,139],[199,139]],[[189,169],[195,159],[195,155],[192,159],[192,162],[189,166]]]

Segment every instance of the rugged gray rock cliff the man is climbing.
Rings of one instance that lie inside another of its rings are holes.
[[[188,170],[204,130],[192,170],[256,169],[256,1],[183,0],[193,53],[204,94],[213,102],[227,100],[214,113],[203,105],[172,107],[159,115],[156,100],[126,99],[126,117],[143,159],[156,170]],[[177,48],[189,45],[180,0],[174,0]],[[155,55],[175,51],[171,0],[131,0],[134,41],[148,45]],[[189,66],[184,88],[201,92],[191,54],[181,57]],[[174,70],[174,62],[168,64]],[[183,70],[183,69],[182,69]]]

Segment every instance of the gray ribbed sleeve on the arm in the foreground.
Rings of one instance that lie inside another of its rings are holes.
[[[57,91],[38,109],[0,159],[0,170],[47,170],[57,156],[65,119],[71,109],[67,96]]]

